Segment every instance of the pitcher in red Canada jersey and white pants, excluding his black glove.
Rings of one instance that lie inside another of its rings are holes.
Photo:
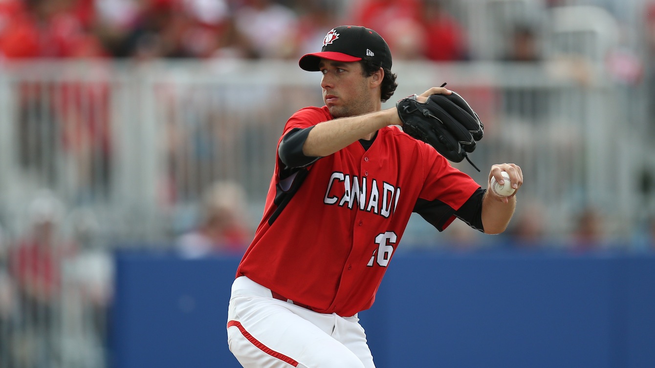
[[[299,65],[322,73],[324,107],[293,114],[280,140],[263,218],[232,287],[227,336],[244,367],[374,367],[358,312],[368,309],[412,212],[439,231],[455,218],[495,234],[515,209],[435,148],[404,133],[386,42],[365,27],[327,33]],[[430,88],[414,98],[450,95]],[[453,93],[454,94],[454,93]]]

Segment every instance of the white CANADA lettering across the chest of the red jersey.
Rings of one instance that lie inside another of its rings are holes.
[[[323,202],[326,205],[337,205],[348,209],[359,208],[388,218],[398,206],[400,188],[388,182],[379,184],[375,179],[370,180],[369,183],[366,179],[339,171],[333,172],[327,182]]]

